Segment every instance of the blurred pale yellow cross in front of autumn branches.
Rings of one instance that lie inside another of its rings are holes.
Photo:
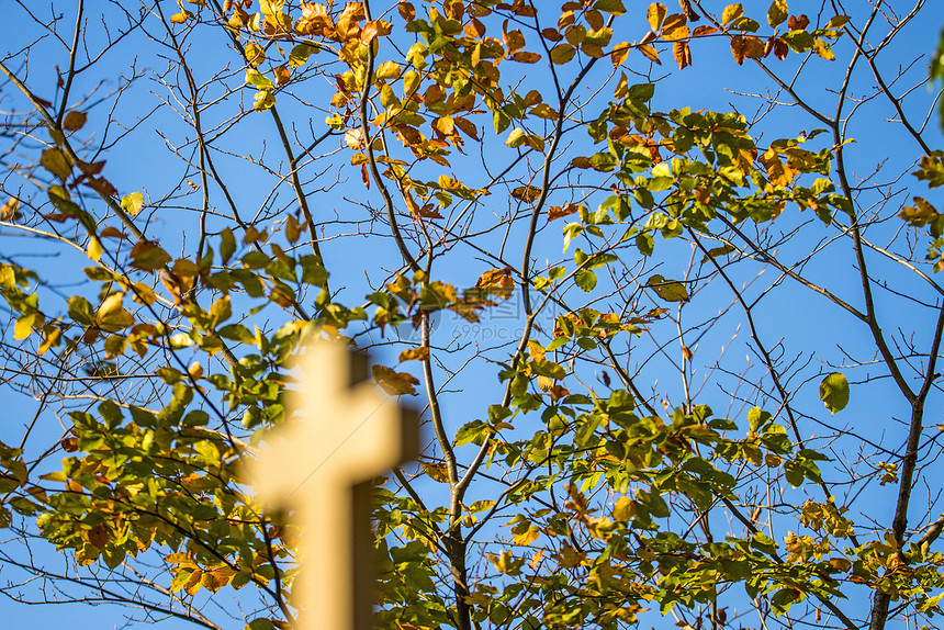
[[[300,362],[302,420],[267,436],[250,464],[258,499],[303,530],[291,603],[301,630],[373,628],[370,480],[418,454],[416,415],[367,383],[367,359],[317,341]]]

